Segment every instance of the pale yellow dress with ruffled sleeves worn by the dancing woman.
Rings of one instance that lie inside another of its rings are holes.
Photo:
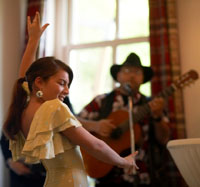
[[[46,101],[34,115],[25,140],[19,132],[10,140],[13,160],[42,162],[47,171],[45,187],[87,187],[87,174],[79,146],[61,134],[69,127],[81,124],[59,99]]]

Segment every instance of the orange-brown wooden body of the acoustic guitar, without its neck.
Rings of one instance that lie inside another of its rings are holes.
[[[111,119],[112,123],[117,127],[124,121],[128,119],[128,112],[125,110],[118,110],[116,112],[111,113],[107,119]],[[134,136],[135,136],[135,143],[141,141],[141,128],[138,124],[134,125]],[[127,130],[124,132],[118,139],[112,139],[110,137],[102,137],[97,134],[93,134],[97,138],[103,140],[107,143],[112,149],[114,149],[118,154],[120,154],[123,150],[128,149],[131,147],[131,138],[130,138],[130,131]],[[86,151],[81,149],[84,164],[86,167],[86,171],[88,175],[92,178],[101,178],[105,176],[107,173],[111,171],[113,165],[106,164],[101,162],[88,154]]]

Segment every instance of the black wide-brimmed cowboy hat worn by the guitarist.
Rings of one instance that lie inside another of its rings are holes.
[[[131,53],[126,60],[124,61],[123,64],[118,65],[118,64],[114,64],[111,66],[110,68],[110,73],[113,77],[113,79],[115,81],[117,80],[117,73],[120,71],[121,67],[123,66],[134,66],[134,67],[140,67],[143,69],[143,75],[144,75],[144,80],[143,83],[146,83],[148,81],[150,81],[153,77],[153,70],[151,67],[146,67],[146,66],[142,66],[141,62],[140,62],[140,58],[135,54],[135,53]]]

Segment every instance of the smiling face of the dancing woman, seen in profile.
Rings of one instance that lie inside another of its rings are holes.
[[[51,76],[47,81],[41,80],[39,89],[43,92],[42,99],[52,100],[64,98],[69,94],[69,75],[64,70],[59,70],[55,75]]]

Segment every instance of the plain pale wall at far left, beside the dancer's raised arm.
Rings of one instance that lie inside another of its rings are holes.
[[[24,8],[26,0],[0,0],[0,124],[8,109],[12,87],[22,54]],[[22,29],[21,29],[22,28]],[[1,130],[0,130],[1,131]],[[0,151],[1,152],[1,151]],[[3,172],[2,172],[3,171]],[[7,170],[0,153],[0,186],[8,186]]]

